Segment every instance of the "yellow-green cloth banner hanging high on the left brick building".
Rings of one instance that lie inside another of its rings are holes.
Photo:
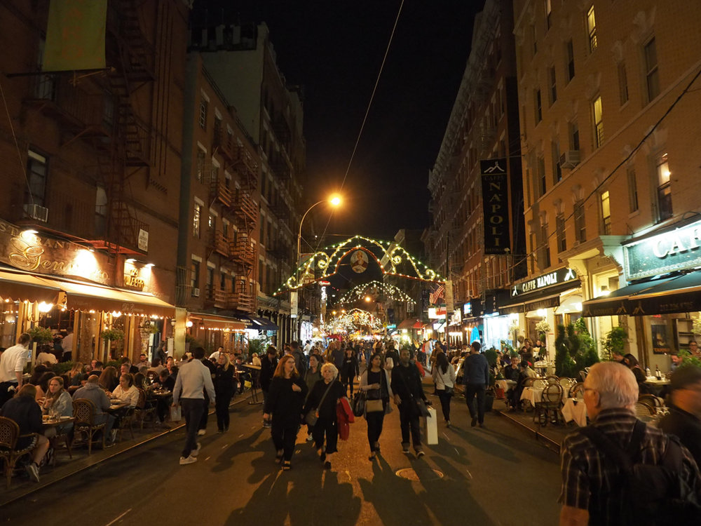
[[[45,72],[104,69],[107,0],[51,0]]]

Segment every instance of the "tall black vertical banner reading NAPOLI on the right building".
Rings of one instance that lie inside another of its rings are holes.
[[[479,171],[482,173],[484,253],[508,254],[511,245],[506,159],[479,161]]]

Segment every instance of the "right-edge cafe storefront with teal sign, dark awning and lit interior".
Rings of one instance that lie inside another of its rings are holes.
[[[625,286],[583,304],[583,315],[617,318],[643,365],[669,370],[669,354],[701,337],[701,221],[622,244]],[[632,318],[628,318],[632,317]]]

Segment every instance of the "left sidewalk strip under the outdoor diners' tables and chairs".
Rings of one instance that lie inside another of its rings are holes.
[[[246,391],[243,396],[237,396],[236,400],[231,403],[230,407],[244,403],[249,399],[250,391]],[[213,407],[209,414],[211,422],[212,415],[214,415]],[[87,447],[83,447],[83,445],[80,444],[76,445],[76,448],[71,450],[73,459],[68,456],[68,452],[65,450],[65,448],[60,448],[55,452],[56,466],[42,466],[39,473],[41,482],[34,483],[32,480],[29,480],[29,477],[25,476],[24,473],[20,474],[18,472],[15,473],[15,476],[13,476],[12,485],[8,490],[3,477],[3,480],[0,481],[0,507],[17,499],[21,499],[22,497],[26,497],[28,494],[36,492],[36,490],[40,490],[43,487],[73,476],[76,473],[92,468],[93,466],[100,464],[102,461],[114,458],[119,454],[134,449],[135,447],[149,443],[151,440],[156,440],[156,438],[160,438],[168,433],[182,429],[185,426],[185,420],[182,419],[180,422],[168,422],[168,425],[171,426],[170,429],[154,429],[153,426],[149,424],[142,430],[139,429],[138,426],[135,426],[133,439],[131,438],[129,431],[124,430],[122,431],[121,440],[118,440],[116,445],[113,447],[107,447],[104,450],[100,449],[100,446],[97,446],[96,448],[95,445],[93,445],[93,453],[90,455],[88,455]],[[2,465],[4,467],[4,464]]]

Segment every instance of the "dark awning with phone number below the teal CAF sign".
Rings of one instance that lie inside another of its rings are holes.
[[[583,316],[647,316],[701,310],[701,271],[631,283],[584,302]]]

